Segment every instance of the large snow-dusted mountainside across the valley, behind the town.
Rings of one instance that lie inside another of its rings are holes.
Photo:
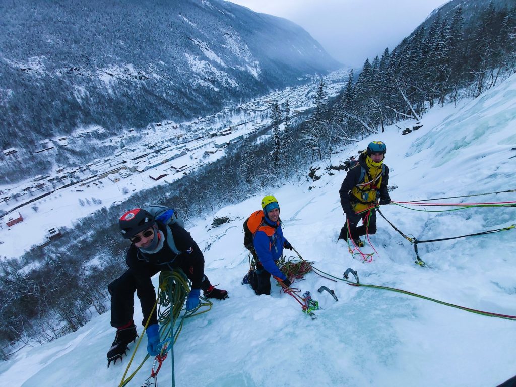
[[[0,12],[1,149],[197,118],[340,67],[300,26],[223,0],[30,0]]]

